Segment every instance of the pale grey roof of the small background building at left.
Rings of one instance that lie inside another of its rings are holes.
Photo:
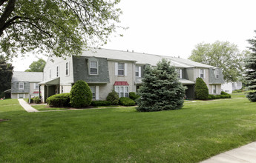
[[[12,82],[42,82],[42,72],[14,71]]]

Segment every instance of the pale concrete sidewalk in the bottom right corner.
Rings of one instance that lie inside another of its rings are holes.
[[[229,150],[225,153],[220,153],[210,159],[206,159],[202,163],[229,163],[229,162],[256,162],[256,142],[246,144],[234,150]]]

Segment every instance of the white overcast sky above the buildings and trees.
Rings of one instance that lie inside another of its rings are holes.
[[[183,59],[200,42],[229,41],[246,50],[246,40],[256,36],[255,6],[255,0],[121,0],[120,20],[129,29],[103,48]],[[14,59],[14,70],[26,70],[36,60]]]

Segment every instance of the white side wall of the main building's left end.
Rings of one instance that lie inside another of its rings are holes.
[[[66,63],[69,62],[69,75],[65,75]],[[59,66],[59,83],[61,85],[71,85],[73,83],[73,60],[72,57],[62,59],[59,57],[49,57],[45,64],[43,81],[55,79],[56,67]]]

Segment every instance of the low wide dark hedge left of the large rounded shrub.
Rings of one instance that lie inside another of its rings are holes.
[[[70,106],[70,93],[62,93],[50,96],[46,99],[50,107],[69,107]]]

